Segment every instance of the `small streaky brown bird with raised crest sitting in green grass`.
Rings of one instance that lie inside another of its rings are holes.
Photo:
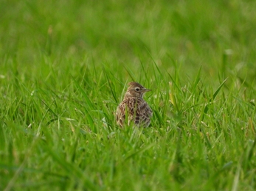
[[[128,126],[134,123],[139,127],[148,127],[151,123],[153,112],[143,99],[143,95],[151,90],[146,89],[137,82],[128,83],[129,87],[121,104],[117,107],[117,124],[123,126],[127,114]]]

